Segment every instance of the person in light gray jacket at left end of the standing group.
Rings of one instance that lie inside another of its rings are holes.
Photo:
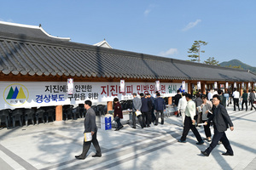
[[[136,111],[141,111],[142,109],[142,99],[139,99],[137,97],[137,94],[134,93],[133,99],[132,99],[132,128],[136,128]],[[137,116],[137,119],[139,123],[141,124],[141,127],[143,128],[143,117],[142,115]]]

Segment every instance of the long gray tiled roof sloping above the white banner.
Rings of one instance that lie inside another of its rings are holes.
[[[8,75],[256,82],[248,71],[54,38],[20,37],[0,24],[0,72]]]

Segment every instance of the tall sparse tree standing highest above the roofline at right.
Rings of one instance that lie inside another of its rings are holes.
[[[200,54],[205,53],[205,51],[201,50],[201,46],[207,45],[208,42],[203,41],[195,41],[191,48],[189,48],[188,53],[191,53],[191,55],[188,55],[191,59],[191,61],[195,62],[198,61],[200,63]]]

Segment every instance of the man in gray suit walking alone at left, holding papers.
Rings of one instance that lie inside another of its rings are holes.
[[[92,139],[91,141],[84,142],[83,145],[83,152],[79,156],[75,156],[77,159],[85,159],[86,154],[88,150],[90,149],[90,144],[92,143],[96,149],[96,155],[92,157],[101,157],[102,156],[102,151],[101,147],[99,145],[99,142],[96,138],[97,134],[97,126],[96,126],[96,114],[93,109],[90,108],[91,106],[91,101],[86,100],[84,102],[84,108],[87,110],[85,118],[84,118],[84,133],[91,133]]]

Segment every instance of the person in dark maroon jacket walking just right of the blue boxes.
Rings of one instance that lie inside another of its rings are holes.
[[[115,131],[119,131],[119,129],[121,129],[124,126],[120,122],[120,119],[123,118],[123,111],[122,111],[122,106],[119,103],[119,99],[117,99],[117,98],[113,99],[113,117],[114,117],[115,122],[117,122],[117,127],[116,127]]]

